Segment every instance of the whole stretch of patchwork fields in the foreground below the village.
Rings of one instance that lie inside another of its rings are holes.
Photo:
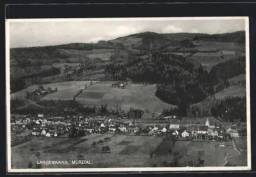
[[[92,142],[104,140],[106,137],[110,139],[102,144],[97,144],[95,147],[92,146]],[[163,141],[161,137],[110,134],[91,134],[80,139],[36,138],[12,148],[12,166],[27,168],[29,162],[35,163],[39,159],[69,161],[68,166],[63,164],[43,165],[43,168],[151,167],[152,164],[161,166],[164,160],[168,163],[171,162],[174,158],[174,152],[178,152],[180,164],[186,164],[188,161],[197,162],[200,157],[205,160],[205,166],[219,166],[225,163],[226,153],[228,155],[238,154],[232,147],[216,147],[216,144],[220,143],[223,142],[176,141],[173,146],[173,141]],[[46,145],[51,147],[41,151],[38,158],[34,156],[36,151],[29,150],[31,147],[35,147],[36,150],[44,149],[43,147]],[[104,154],[101,151],[102,147],[106,145],[110,147],[110,154]],[[168,150],[170,148],[172,148],[172,152],[169,155]],[[77,160],[79,154],[82,155],[83,160],[90,160],[93,164],[72,165],[71,161]],[[232,159],[230,157],[229,161],[234,163],[236,158],[236,156],[233,156]]]

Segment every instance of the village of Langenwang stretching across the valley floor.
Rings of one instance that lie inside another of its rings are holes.
[[[225,125],[211,123],[208,118],[205,125],[153,124],[148,125],[125,119],[115,121],[100,116],[95,118],[83,116],[45,118],[44,114],[38,114],[37,117],[16,115],[11,119],[11,131],[14,134],[31,131],[29,136],[70,138],[79,138],[93,133],[163,136],[195,141],[230,140],[232,137],[246,138],[245,127],[238,127],[234,124],[227,129]]]

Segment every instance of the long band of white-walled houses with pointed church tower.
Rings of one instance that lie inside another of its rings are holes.
[[[74,120],[60,119],[58,121],[47,120],[44,114],[38,114],[37,118],[16,118],[12,120],[12,131],[19,133],[24,129],[32,130],[34,136],[58,137],[60,135],[70,132],[72,129],[77,131],[84,131],[87,133],[104,133],[114,132],[121,134],[137,134],[158,136],[161,134],[173,135],[176,137],[206,137],[208,139],[214,138],[229,138],[229,137],[246,137],[246,129],[239,127],[231,127],[227,131],[218,124],[211,124],[207,118],[205,125],[181,127],[179,124],[168,124],[166,126],[153,125],[143,126],[135,124],[132,121],[116,123],[112,119],[105,119],[104,121],[94,120],[90,118],[82,118],[74,116]],[[30,126],[30,128],[29,128]],[[32,127],[31,127],[32,126]]]

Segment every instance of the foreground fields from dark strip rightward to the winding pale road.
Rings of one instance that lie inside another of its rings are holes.
[[[204,159],[204,166],[220,166],[225,163],[226,153],[228,155],[237,155],[233,147],[216,147],[218,142],[200,142],[200,141],[163,141],[154,151],[154,156],[147,163],[161,166],[163,161],[167,163],[178,157],[178,163],[186,165],[187,162],[197,163],[198,158]],[[230,143],[229,143],[230,144]],[[170,150],[171,149],[171,150]],[[170,154],[169,154],[170,153]],[[246,164],[243,164],[244,166]]]

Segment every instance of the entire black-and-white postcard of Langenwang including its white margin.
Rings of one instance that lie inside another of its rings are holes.
[[[8,172],[251,170],[248,17],[6,19]]]

